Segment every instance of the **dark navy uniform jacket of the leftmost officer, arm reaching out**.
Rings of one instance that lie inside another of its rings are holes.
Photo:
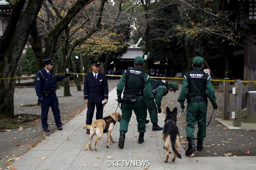
[[[64,78],[64,75],[55,76],[54,72],[50,70],[50,75],[46,69],[43,68],[36,73],[35,89],[36,95],[41,98],[43,92],[55,92],[57,81]]]

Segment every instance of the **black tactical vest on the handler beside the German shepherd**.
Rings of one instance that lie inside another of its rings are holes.
[[[205,88],[208,74],[200,68],[194,68],[192,71],[185,74],[188,81],[188,103],[207,102]]]

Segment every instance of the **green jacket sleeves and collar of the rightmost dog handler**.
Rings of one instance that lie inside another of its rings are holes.
[[[194,68],[193,70],[197,70],[197,69],[201,70],[200,68]],[[211,79],[210,79],[209,75],[207,77],[205,90],[206,90],[205,94],[206,94],[207,98],[210,100],[210,102],[212,104],[214,104],[215,100],[216,100],[216,97],[214,95],[215,91],[214,91],[214,87],[212,85],[212,82],[211,82]],[[188,93],[189,93],[188,81],[187,81],[186,74],[185,74],[185,76],[183,78],[183,82],[182,82],[182,89],[180,91],[180,96],[178,98],[178,102],[180,102],[180,104],[184,104],[185,99],[188,97]]]

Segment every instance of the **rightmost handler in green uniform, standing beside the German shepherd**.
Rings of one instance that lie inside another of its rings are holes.
[[[178,98],[182,109],[185,108],[185,99],[188,102],[186,116],[188,150],[186,150],[186,156],[196,151],[194,145],[194,125],[196,122],[198,123],[197,151],[203,149],[203,141],[206,137],[207,98],[212,103],[213,108],[218,109],[210,76],[202,70],[204,59],[202,57],[195,57],[192,66],[193,70],[184,75],[182,89]]]

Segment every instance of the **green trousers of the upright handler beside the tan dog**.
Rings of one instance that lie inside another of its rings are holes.
[[[119,131],[128,131],[128,125],[132,117],[132,110],[133,110],[138,122],[138,132],[141,132],[141,133],[146,132],[145,114],[147,115],[147,109],[141,97],[139,97],[138,101],[133,104],[122,103],[121,109],[122,109],[122,116],[121,116]]]

